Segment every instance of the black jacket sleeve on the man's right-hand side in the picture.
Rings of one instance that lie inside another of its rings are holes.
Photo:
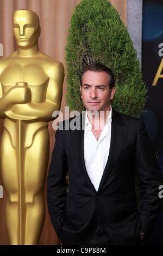
[[[140,123],[136,142],[136,171],[141,191],[140,220],[144,233],[152,231],[160,205],[161,171],[153,154],[145,125]]]

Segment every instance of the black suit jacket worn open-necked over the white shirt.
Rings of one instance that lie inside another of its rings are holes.
[[[72,121],[80,121],[84,127],[83,116]],[[112,111],[110,153],[97,192],[85,168],[84,130],[58,129],[55,138],[47,204],[64,245],[87,244],[97,215],[113,245],[135,244],[140,229],[145,233],[152,230],[161,174],[141,120]],[[140,211],[135,200],[135,174],[142,195]]]

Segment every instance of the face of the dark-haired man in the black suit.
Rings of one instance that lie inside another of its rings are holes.
[[[110,99],[114,97],[115,87],[110,90],[109,76],[106,72],[86,71],[80,86],[85,108],[90,111],[110,110]]]

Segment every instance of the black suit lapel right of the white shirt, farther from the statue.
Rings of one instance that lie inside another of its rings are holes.
[[[112,111],[112,122],[111,122],[111,141],[108,161],[106,162],[105,169],[101,182],[99,184],[98,192],[102,189],[106,178],[108,178],[118,156],[120,155],[124,142],[126,140],[128,127],[126,127],[121,116],[116,112]]]

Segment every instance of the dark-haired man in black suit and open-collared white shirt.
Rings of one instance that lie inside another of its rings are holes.
[[[57,130],[49,168],[53,227],[64,245],[136,245],[153,228],[161,183],[145,126],[111,109],[115,80],[103,64],[87,67],[80,83],[86,112],[76,122],[84,116],[84,129],[81,122],[81,129]],[[102,115],[91,115],[94,111]],[[139,212],[135,172],[142,193]]]

